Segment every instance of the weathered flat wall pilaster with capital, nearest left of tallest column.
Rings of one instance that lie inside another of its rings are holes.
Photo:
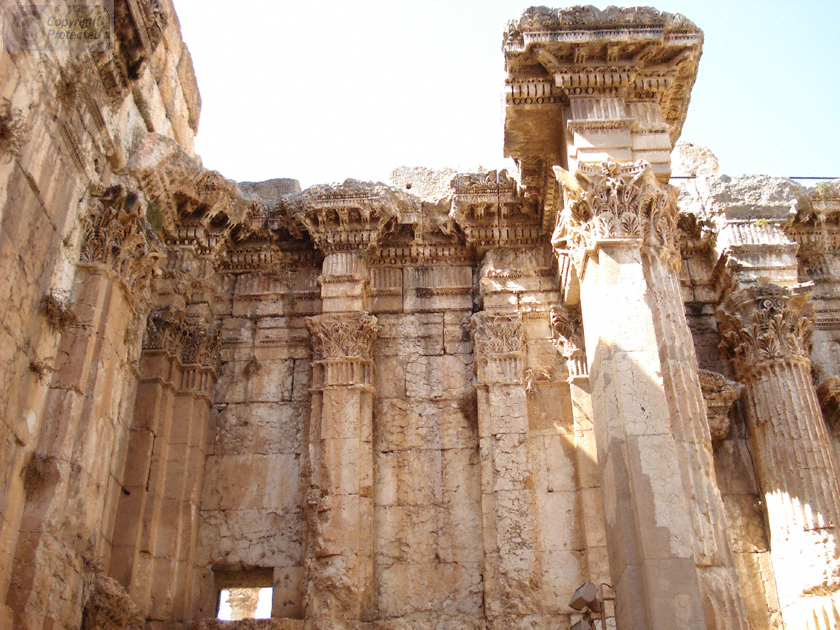
[[[536,498],[528,462],[525,336],[518,312],[479,312],[475,353],[484,601],[491,628],[541,612]]]

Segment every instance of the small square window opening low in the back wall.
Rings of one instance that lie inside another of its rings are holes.
[[[272,570],[218,571],[216,618],[223,621],[270,619],[274,580]]]

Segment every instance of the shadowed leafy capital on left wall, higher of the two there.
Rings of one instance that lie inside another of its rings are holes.
[[[89,210],[80,218],[79,262],[113,271],[134,301],[147,296],[164,255],[160,239],[143,218],[141,205],[140,195],[122,185],[94,188]]]

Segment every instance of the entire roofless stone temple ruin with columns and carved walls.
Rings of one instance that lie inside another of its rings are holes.
[[[693,23],[529,9],[516,173],[301,191],[115,14],[0,54],[0,627],[840,627],[840,190],[669,184]]]

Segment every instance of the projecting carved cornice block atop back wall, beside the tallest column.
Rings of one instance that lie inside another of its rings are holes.
[[[478,249],[516,247],[539,242],[539,207],[525,204],[507,171],[459,173],[452,180],[450,216],[467,244]]]

